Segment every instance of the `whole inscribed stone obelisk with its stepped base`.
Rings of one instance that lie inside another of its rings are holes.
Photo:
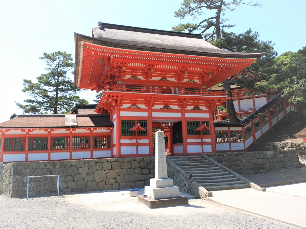
[[[168,178],[163,131],[156,131],[155,144],[155,178],[150,179],[150,186],[144,187],[146,197],[138,196],[138,201],[149,208],[188,205],[188,198],[181,197],[180,188]]]

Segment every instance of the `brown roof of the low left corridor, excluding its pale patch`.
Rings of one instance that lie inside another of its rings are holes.
[[[109,115],[79,114],[77,127],[113,127]],[[0,128],[62,128],[65,115],[18,115],[16,118],[0,123]]]

